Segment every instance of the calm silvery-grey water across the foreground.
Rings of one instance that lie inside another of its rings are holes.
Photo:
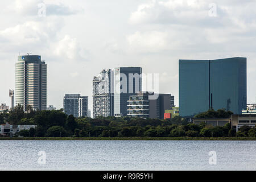
[[[0,170],[256,170],[254,141],[0,141]],[[38,152],[46,152],[46,164]],[[217,164],[210,165],[209,151]]]

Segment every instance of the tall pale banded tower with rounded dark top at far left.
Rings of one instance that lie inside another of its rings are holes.
[[[46,110],[47,102],[47,65],[41,56],[18,56],[16,62],[15,99],[26,109]]]

